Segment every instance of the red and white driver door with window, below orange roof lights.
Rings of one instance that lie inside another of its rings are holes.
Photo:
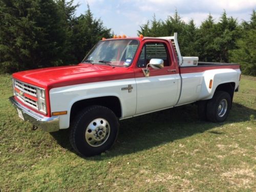
[[[143,47],[134,67],[137,84],[136,115],[174,106],[178,101],[181,87],[174,59],[169,54],[168,42],[153,39],[142,42]],[[150,76],[144,77],[142,69],[146,68],[152,58],[163,59],[164,67],[153,69],[148,66]]]

